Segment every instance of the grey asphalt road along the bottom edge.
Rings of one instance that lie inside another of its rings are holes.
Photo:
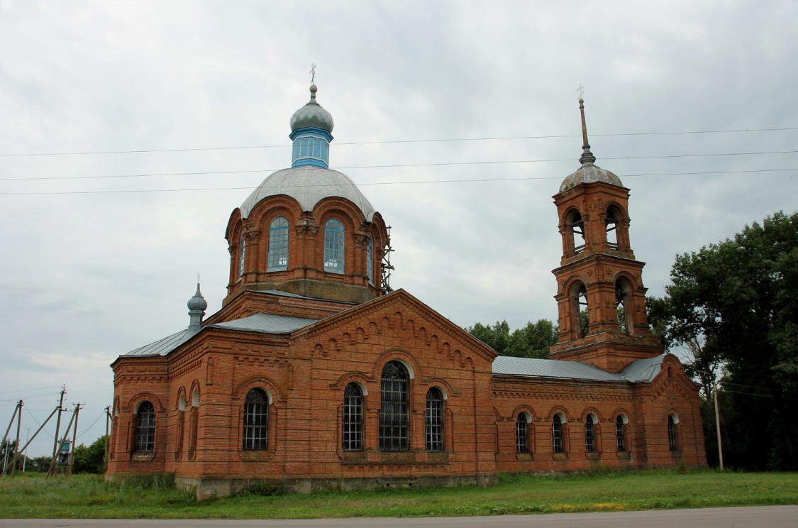
[[[2,513],[0,513],[2,514]],[[597,514],[497,515],[492,517],[345,518],[298,520],[0,519],[2,528],[798,528],[798,506],[749,506],[702,510],[619,511]]]

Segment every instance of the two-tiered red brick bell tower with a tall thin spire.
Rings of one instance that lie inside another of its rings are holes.
[[[553,270],[559,339],[549,357],[620,372],[634,360],[662,354],[662,345],[651,335],[646,316],[645,264],[634,260],[630,245],[629,189],[595,165],[581,98],[579,111],[582,166],[553,197],[563,257]]]

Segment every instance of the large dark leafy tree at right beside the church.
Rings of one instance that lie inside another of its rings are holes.
[[[677,256],[650,314],[708,395],[719,368],[725,459],[798,469],[798,213],[776,212],[732,240]]]

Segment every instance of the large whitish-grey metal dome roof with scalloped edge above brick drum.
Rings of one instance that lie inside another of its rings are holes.
[[[371,221],[374,208],[360,189],[344,173],[314,165],[292,167],[271,173],[241,205],[242,218],[248,218],[252,209],[268,197],[284,194],[299,202],[302,211],[313,211],[321,200],[341,197],[360,208],[365,220]]]

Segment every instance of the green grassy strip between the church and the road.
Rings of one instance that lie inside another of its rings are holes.
[[[265,490],[264,490],[265,491]],[[798,504],[796,473],[713,470],[511,476],[490,488],[260,494],[196,502],[168,478],[0,479],[0,518],[325,518],[540,514]]]

